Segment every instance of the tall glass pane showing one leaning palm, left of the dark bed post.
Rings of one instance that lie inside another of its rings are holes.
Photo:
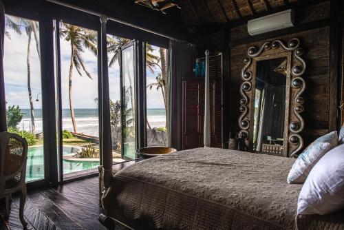
[[[99,165],[97,32],[60,23],[63,174]]]

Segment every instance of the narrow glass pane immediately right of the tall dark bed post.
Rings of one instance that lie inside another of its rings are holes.
[[[113,162],[121,162],[122,125],[120,124],[120,48],[129,43],[129,39],[107,34],[107,52],[109,57],[109,94]]]

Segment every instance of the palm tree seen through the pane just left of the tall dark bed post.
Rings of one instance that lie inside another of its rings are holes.
[[[72,97],[72,76],[73,69],[76,68],[76,71],[80,76],[83,76],[81,73],[82,70],[85,74],[92,79],[91,74],[86,70],[83,57],[81,54],[84,52],[84,48],[89,49],[94,55],[97,55],[97,34],[92,30],[87,30],[85,28],[80,28],[76,25],[69,25],[67,23],[61,23],[60,28],[61,38],[68,41],[71,47],[70,55],[70,65],[69,65],[69,76],[68,76],[68,96],[69,96],[69,109],[73,123],[74,132],[77,132],[75,114],[73,107],[73,97]]]

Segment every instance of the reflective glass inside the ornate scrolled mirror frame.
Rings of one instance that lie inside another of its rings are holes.
[[[287,59],[257,61],[253,149],[283,153]]]

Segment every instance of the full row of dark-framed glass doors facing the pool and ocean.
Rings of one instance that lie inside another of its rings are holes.
[[[146,99],[147,87],[159,74],[155,68],[146,79],[146,59],[151,55],[146,55],[146,43],[108,34],[109,85],[102,85],[98,17],[78,12],[80,19],[67,15],[76,12],[70,9],[66,14],[23,9],[6,8],[15,16],[6,15],[6,98],[0,99],[6,101],[8,131],[25,137],[30,145],[26,180],[32,187],[97,172],[103,87],[110,92],[110,114],[105,116],[111,120],[114,163],[137,157],[136,149],[147,145],[147,126],[164,132],[163,94],[158,92],[158,103],[153,94]],[[128,31],[119,34],[136,37]],[[149,93],[153,92],[154,87]]]

